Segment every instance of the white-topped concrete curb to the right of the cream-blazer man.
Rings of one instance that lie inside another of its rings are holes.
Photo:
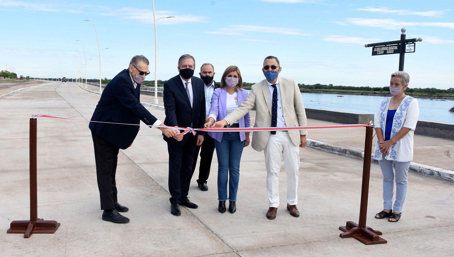
[[[359,151],[355,151],[355,150],[348,149],[348,148],[341,148],[341,147],[338,147],[338,146],[330,144],[330,143],[324,143],[324,142],[320,142],[320,141],[316,141],[316,140],[312,140],[312,139],[307,139],[307,146],[309,146],[311,148],[323,150],[326,152],[330,152],[330,153],[340,154],[340,155],[343,155],[346,157],[351,157],[351,158],[356,158],[356,159],[364,158],[364,152],[359,152]],[[378,163],[378,161],[374,160],[373,158],[371,158],[371,159],[373,162]],[[414,163],[414,162],[410,163],[409,170],[413,171],[413,172],[421,173],[421,174],[424,174],[424,175],[427,175],[430,177],[440,178],[440,179],[447,180],[449,182],[454,182],[454,172],[451,170],[436,168],[436,167],[432,167],[429,165],[424,165],[424,164]]]

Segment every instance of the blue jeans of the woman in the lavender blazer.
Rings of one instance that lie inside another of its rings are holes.
[[[240,160],[244,141],[239,132],[224,132],[221,142],[214,140],[217,154],[217,197],[219,201],[227,201],[227,182],[229,200],[237,201],[238,183],[240,181]],[[230,180],[228,175],[230,174]]]

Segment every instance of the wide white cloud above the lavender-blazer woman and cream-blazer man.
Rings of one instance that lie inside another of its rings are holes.
[[[279,27],[265,27],[257,25],[229,25],[227,28],[221,28],[217,31],[205,31],[208,34],[223,34],[223,35],[244,35],[245,32],[260,32],[282,35],[299,35],[308,36],[311,34],[302,33],[299,29],[279,28]]]

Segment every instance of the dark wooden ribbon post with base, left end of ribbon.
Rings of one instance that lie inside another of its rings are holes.
[[[30,118],[30,220],[15,220],[6,231],[9,234],[24,234],[24,238],[29,238],[33,233],[53,234],[60,226],[54,220],[38,218],[36,124],[36,118]]]

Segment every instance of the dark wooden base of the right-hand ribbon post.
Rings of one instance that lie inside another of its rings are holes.
[[[339,235],[341,238],[353,237],[365,245],[385,244],[388,242],[379,237],[382,235],[382,232],[370,227],[360,228],[358,224],[352,221],[348,221],[345,226],[339,227],[339,229],[343,231],[343,233]]]

